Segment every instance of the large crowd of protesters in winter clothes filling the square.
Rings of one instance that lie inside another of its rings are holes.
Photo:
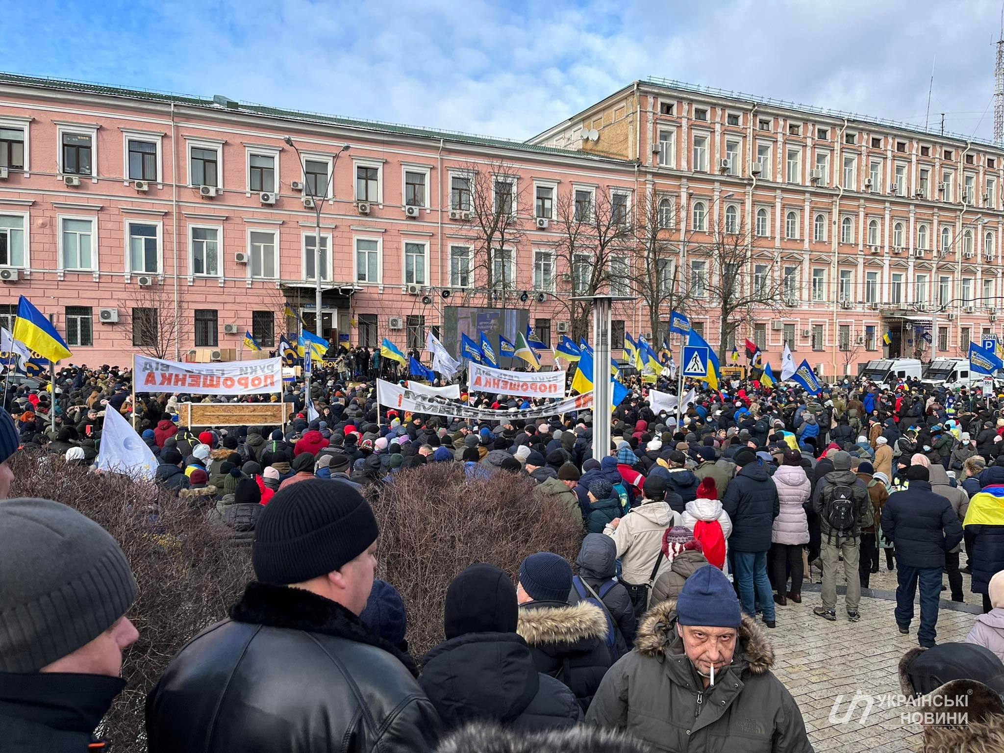
[[[67,368],[7,395],[0,497],[15,452],[93,464],[103,414],[115,410],[157,457],[157,483],[251,547],[256,579],[147,699],[153,753],[473,753],[485,740],[633,750],[636,738],[660,750],[810,751],[771,673],[768,636],[785,630],[813,572],[812,611],[841,618],[841,561],[850,621],[880,616],[861,595],[884,564],[897,573],[904,635],[920,592],[925,651],[904,658],[908,695],[972,691],[978,711],[955,734],[973,750],[1004,742],[1004,401],[911,381],[846,380],[820,395],[741,381],[701,386],[678,424],[636,376],[596,452],[588,412],[488,422],[378,413],[379,353],[333,361],[314,370],[310,396],[290,385],[269,398],[292,404],[282,427],[182,426],[181,403],[225,399],[139,394],[133,405],[131,375],[116,368]],[[537,552],[515,578],[485,563],[456,573],[444,642],[419,658],[407,651],[407,604],[374,579],[380,531],[366,496],[435,463],[468,478],[528,476],[583,538],[574,562]],[[0,734],[18,750],[76,750],[121,690],[136,584],[110,536],[57,503],[0,503],[0,537],[12,553],[0,580]],[[942,591],[962,601],[964,574],[985,613],[969,643],[937,645]],[[60,694],[65,706],[40,710]],[[81,694],[90,713],[72,729],[56,724]]]

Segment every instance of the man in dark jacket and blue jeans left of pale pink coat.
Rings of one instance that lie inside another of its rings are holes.
[[[777,487],[763,462],[748,447],[735,455],[739,473],[722,497],[722,507],[732,521],[729,552],[733,572],[739,581],[739,598],[748,614],[756,614],[756,602],[763,608],[763,621],[774,626],[774,592],[767,577],[774,518],[781,509]]]

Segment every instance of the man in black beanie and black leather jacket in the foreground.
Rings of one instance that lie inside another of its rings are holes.
[[[379,533],[348,484],[278,492],[255,528],[257,580],[147,698],[150,753],[432,749],[440,720],[415,663],[358,618]]]

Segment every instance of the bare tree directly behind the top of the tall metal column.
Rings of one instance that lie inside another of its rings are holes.
[[[595,198],[576,202],[574,194],[560,194],[554,202],[552,229],[560,234],[553,246],[550,280],[541,280],[554,293],[558,309],[569,321],[574,341],[588,334],[593,302],[577,296],[631,292],[632,223],[626,196],[597,189]],[[535,281],[536,282],[536,281]]]

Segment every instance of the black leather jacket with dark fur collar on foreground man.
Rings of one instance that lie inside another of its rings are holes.
[[[440,730],[407,654],[340,604],[249,583],[147,698],[150,753],[425,753]]]

